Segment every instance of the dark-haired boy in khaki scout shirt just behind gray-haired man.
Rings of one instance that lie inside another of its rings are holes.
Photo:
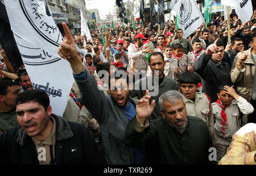
[[[180,92],[185,97],[187,115],[198,117],[207,123],[210,135],[214,133],[213,117],[209,117],[212,102],[205,93],[197,92],[200,77],[195,72],[184,72],[180,75]]]

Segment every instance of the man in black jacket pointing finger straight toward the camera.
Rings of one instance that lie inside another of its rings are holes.
[[[194,65],[195,72],[202,79],[202,92],[207,93],[212,102],[217,101],[218,87],[221,84],[232,84],[229,64],[223,62],[223,56],[224,43],[218,38],[196,59]]]

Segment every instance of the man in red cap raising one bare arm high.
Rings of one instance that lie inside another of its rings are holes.
[[[115,54],[121,54],[122,58],[123,58],[123,63],[126,63],[128,64],[129,63],[129,59],[128,59],[128,52],[126,50],[123,49],[123,41],[122,40],[117,40],[117,47],[115,46],[112,46],[110,45],[110,42],[109,42],[109,34],[106,33],[106,41],[107,41],[107,44],[109,46],[109,49],[110,51],[113,53],[113,56]],[[115,59],[114,59],[115,60]],[[116,61],[115,61],[116,62]]]

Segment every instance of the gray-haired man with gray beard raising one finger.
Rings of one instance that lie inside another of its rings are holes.
[[[125,142],[146,148],[148,164],[216,164],[208,127],[202,119],[187,115],[183,95],[164,92],[159,98],[163,118],[149,122],[155,100],[150,105],[148,93],[137,101],[137,115],[126,127]]]

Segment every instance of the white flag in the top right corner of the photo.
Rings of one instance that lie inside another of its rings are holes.
[[[242,23],[248,22],[251,16],[253,16],[251,0],[222,0],[221,5],[234,7]]]

